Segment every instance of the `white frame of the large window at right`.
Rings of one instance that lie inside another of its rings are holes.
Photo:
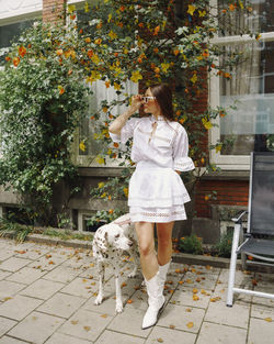
[[[218,0],[212,0],[214,11],[217,11]],[[216,12],[214,14],[217,14]],[[256,42],[254,37],[249,35],[235,35],[218,37],[217,35],[210,41],[216,45],[231,45],[239,43]],[[262,33],[260,42],[274,42],[274,32]],[[213,109],[220,106],[219,103],[219,77],[210,73],[209,85],[208,85],[208,101]],[[219,116],[213,121],[216,126],[209,131],[210,144],[217,144],[220,141],[220,119]],[[216,153],[215,149],[210,149],[210,163],[216,164],[224,170],[249,170],[250,169],[250,156],[249,155],[221,155],[220,152]]]

